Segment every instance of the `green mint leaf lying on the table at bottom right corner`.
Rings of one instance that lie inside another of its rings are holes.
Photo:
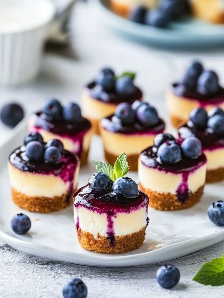
[[[203,264],[193,280],[203,285],[224,285],[224,255]]]

